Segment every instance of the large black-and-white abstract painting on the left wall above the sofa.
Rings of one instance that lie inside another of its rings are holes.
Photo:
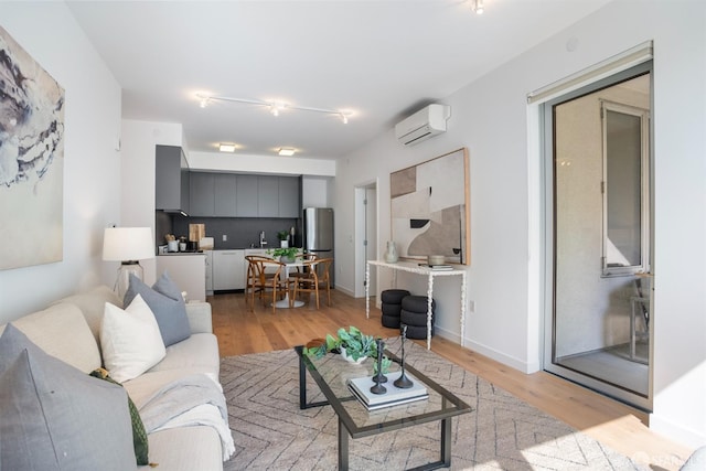
[[[63,259],[64,89],[0,28],[0,269]]]

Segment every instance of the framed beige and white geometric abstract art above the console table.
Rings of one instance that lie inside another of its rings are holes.
[[[470,264],[466,148],[391,173],[392,237],[400,258]]]

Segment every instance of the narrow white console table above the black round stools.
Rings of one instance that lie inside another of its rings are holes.
[[[466,270],[432,270],[427,267],[421,267],[418,264],[408,261],[398,261],[396,264],[388,264],[382,260],[367,260],[365,264],[365,317],[371,317],[371,297],[370,297],[370,280],[371,280],[371,265],[376,267],[385,267],[393,270],[393,287],[397,288],[397,271],[407,271],[410,274],[424,275],[427,277],[427,350],[431,349],[431,293],[434,291],[434,278],[435,277],[461,277],[461,346],[463,346],[463,333],[466,330]]]

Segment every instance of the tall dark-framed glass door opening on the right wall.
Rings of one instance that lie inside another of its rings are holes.
[[[652,62],[542,105],[544,368],[652,408]]]

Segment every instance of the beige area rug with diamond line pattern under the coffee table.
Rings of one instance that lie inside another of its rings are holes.
[[[398,339],[387,347],[397,352]],[[638,470],[624,456],[467,372],[406,344],[407,361],[472,407],[452,421],[452,470]],[[330,406],[299,409],[293,350],[222,360],[236,452],[233,470],[335,470],[338,419]],[[308,376],[308,400],[325,398]],[[351,470],[404,470],[439,459],[440,422],[350,440]]]

